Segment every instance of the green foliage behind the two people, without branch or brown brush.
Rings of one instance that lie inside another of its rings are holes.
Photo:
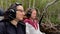
[[[25,10],[27,8],[37,8],[40,18],[46,5],[52,1],[54,0],[0,0],[0,8],[6,10],[12,3],[19,2],[23,4]],[[47,17],[51,23],[60,24],[60,0],[47,8],[42,22],[46,22]]]

